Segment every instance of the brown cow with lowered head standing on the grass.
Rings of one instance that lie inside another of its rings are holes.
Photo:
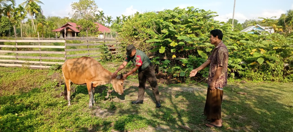
[[[74,84],[87,84],[89,91],[89,108],[95,103],[94,87],[111,83],[114,90],[123,94],[122,74],[111,79],[111,72],[102,67],[102,65],[91,57],[80,57],[68,59],[62,65],[62,73],[65,79],[64,96],[70,106],[70,86]]]

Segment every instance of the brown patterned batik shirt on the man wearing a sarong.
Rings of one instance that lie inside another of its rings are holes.
[[[214,75],[216,73],[217,67],[222,66],[223,70],[220,74],[219,78],[216,80],[215,88],[223,88],[227,85],[227,77],[228,77],[228,49],[221,41],[213,50],[212,54],[209,56],[209,60],[211,60],[209,67],[209,77],[208,77],[208,85],[212,82]]]

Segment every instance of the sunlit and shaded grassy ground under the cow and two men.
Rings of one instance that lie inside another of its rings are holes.
[[[113,72],[120,64],[103,65]],[[68,107],[60,70],[0,67],[0,132],[186,131],[182,126],[203,132],[293,131],[293,83],[228,81],[221,128],[204,125],[205,84],[159,83],[161,108],[148,84],[144,103],[131,104],[137,99],[137,74],[124,84],[124,95],[113,93],[113,101],[105,99],[108,85],[95,88],[92,109],[86,86],[73,85]]]

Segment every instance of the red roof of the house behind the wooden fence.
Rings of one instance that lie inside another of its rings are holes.
[[[97,24],[97,26],[99,26],[99,31],[100,32],[102,32],[102,33],[104,33],[104,32],[106,32],[106,33],[110,33],[110,29],[109,28],[107,28],[107,27],[105,27],[105,26],[103,26],[103,25],[101,25],[100,23],[97,23],[97,22],[95,22],[96,24]],[[73,30],[74,32],[77,32],[77,33],[79,33],[80,31],[78,30],[78,29],[76,29],[76,23],[74,23],[74,22],[67,22],[65,25],[63,25],[62,27],[60,27],[60,28],[57,28],[57,29],[55,29],[55,30],[52,30],[52,32],[60,32],[60,31],[62,31],[62,30],[64,30],[64,28],[70,28],[71,30]]]

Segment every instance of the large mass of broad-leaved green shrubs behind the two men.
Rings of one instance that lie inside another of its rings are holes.
[[[290,56],[293,54],[293,36],[239,33],[241,26],[237,21],[234,22],[238,30],[232,31],[229,22],[212,19],[217,16],[215,13],[188,7],[168,9],[158,14],[138,14],[119,29],[121,42],[135,44],[149,56],[155,56],[153,62],[157,62],[155,65],[158,65],[155,67],[165,67],[162,61],[171,60],[167,69],[159,68],[158,72],[165,72],[174,78],[180,77],[180,81],[185,81],[184,77],[188,77],[190,70],[200,66],[199,64],[208,58],[214,48],[209,43],[209,31],[220,29],[224,34],[222,41],[229,50],[228,71],[231,77],[254,80],[255,77],[252,76],[257,73],[257,78],[265,76],[258,80],[289,81],[286,76],[292,73],[292,67],[285,70],[283,64],[292,65]],[[276,22],[270,18],[262,19],[259,23]],[[201,76],[202,79],[207,73],[208,68],[205,68],[197,76]]]

